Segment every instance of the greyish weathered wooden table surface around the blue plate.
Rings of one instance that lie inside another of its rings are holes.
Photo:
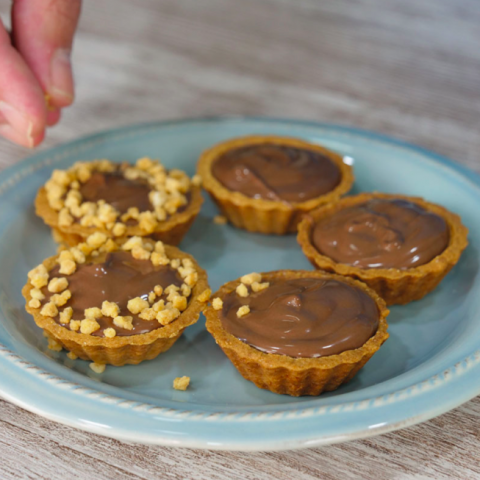
[[[86,1],[76,103],[44,147],[131,122],[267,115],[377,130],[480,171],[479,25],[478,0]],[[0,140],[0,168],[29,153]],[[480,397],[281,453],[124,444],[0,402],[0,451],[1,479],[478,479]]]

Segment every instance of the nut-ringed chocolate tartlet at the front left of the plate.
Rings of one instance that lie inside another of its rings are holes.
[[[26,310],[53,346],[116,366],[151,360],[194,324],[206,273],[175,247],[100,232],[29,272]]]

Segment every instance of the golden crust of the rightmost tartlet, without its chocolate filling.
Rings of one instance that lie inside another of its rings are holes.
[[[430,262],[406,270],[396,268],[362,269],[337,263],[326,255],[322,255],[313,245],[311,237],[316,222],[347,207],[359,205],[372,199],[401,199],[415,203],[425,210],[442,217],[448,225],[450,240],[447,248]],[[461,218],[446,208],[427,202],[420,197],[392,195],[387,193],[361,193],[345,197],[335,205],[327,205],[310,212],[298,226],[298,243],[303,253],[318,269],[334,272],[365,282],[375,290],[387,305],[412,302],[423,298],[442,281],[445,275],[458,262],[468,245],[468,229],[462,224]]]

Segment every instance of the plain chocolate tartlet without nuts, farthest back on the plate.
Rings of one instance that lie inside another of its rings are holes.
[[[348,192],[352,168],[340,155],[304,140],[251,136],[205,151],[205,190],[228,220],[250,232],[295,232],[303,214]]]

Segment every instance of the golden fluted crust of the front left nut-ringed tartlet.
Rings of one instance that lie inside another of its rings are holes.
[[[198,300],[198,296],[209,288],[207,273],[191,255],[169,245],[165,245],[165,252],[169,258],[188,258],[192,260],[198,273],[198,281],[192,289],[187,308],[176,320],[164,327],[139,335],[116,336],[114,338],[74,332],[59,325],[52,318],[41,315],[41,308],[28,306],[32,299],[30,290],[33,288],[30,281],[22,289],[22,295],[26,300],[25,309],[33,316],[35,323],[43,329],[48,338],[55,340],[63,348],[73,352],[82,360],[115,366],[136,365],[144,360],[152,360],[160,353],[167,351],[178,340],[186,327],[197,322],[203,308],[203,303]],[[44,260],[43,265],[48,271],[57,264],[57,258],[58,255],[55,255]]]

